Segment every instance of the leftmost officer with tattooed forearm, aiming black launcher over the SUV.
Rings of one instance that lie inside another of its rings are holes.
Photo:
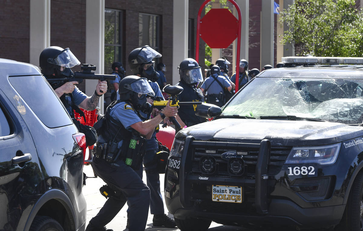
[[[82,112],[78,106],[85,110],[94,110],[98,105],[99,97],[107,91],[106,81],[98,80],[95,92],[91,97],[85,95],[76,87],[77,81],[50,81],[54,78],[73,76],[70,68],[79,64],[81,63],[69,48],[63,49],[58,46],[50,46],[44,49],[39,56],[41,73],[51,83],[72,118],[74,118],[73,110],[78,113]]]

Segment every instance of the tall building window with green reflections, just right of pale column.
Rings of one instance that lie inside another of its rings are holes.
[[[114,62],[122,63],[122,11],[105,9],[105,73]]]

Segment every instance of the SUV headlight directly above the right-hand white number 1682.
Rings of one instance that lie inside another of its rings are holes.
[[[334,164],[338,158],[341,143],[318,147],[293,147],[285,164]]]

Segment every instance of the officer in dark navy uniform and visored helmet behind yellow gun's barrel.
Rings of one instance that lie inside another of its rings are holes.
[[[184,90],[178,95],[180,102],[203,102],[204,96],[199,86],[203,82],[201,67],[196,60],[187,58],[181,61],[179,67],[180,81],[178,84]],[[180,106],[179,116],[186,126],[205,122],[205,118],[195,115],[195,104]],[[180,123],[180,122],[179,122]]]

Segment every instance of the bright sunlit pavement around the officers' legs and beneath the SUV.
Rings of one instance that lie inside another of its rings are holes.
[[[93,177],[93,170],[91,165],[84,166],[83,172],[86,173],[87,177]],[[143,172],[143,180],[146,182],[146,175],[145,171]],[[88,178],[86,180],[86,185],[83,186],[83,195],[86,198],[87,202],[87,224],[91,218],[93,218],[101,209],[103,204],[106,202],[106,198],[101,195],[99,192],[99,188],[104,185],[105,183],[100,179],[97,178]],[[160,185],[162,190],[162,195],[164,195],[164,174],[160,174]],[[172,217],[170,213],[168,213],[168,210],[165,206],[165,213],[169,215],[169,217]],[[114,231],[128,231],[129,229],[126,228],[126,210],[127,205],[125,205],[121,211],[117,214],[117,216],[109,223],[107,224],[107,228],[111,228]],[[154,227],[152,226],[152,217],[153,215],[150,214],[149,209],[149,215],[147,218],[147,223],[145,230],[148,231],[178,231],[178,228],[163,228],[163,227]],[[295,230],[295,229],[292,229]],[[209,227],[208,231],[262,231],[262,229],[256,229],[256,228],[242,228],[242,227],[236,227],[236,226],[224,226],[221,224],[217,224],[215,222],[212,222],[211,226]],[[266,230],[267,231],[267,230]],[[282,231],[282,229],[268,229],[268,231]],[[284,231],[290,231],[284,229]],[[313,231],[313,230],[310,230]],[[327,229],[319,229],[314,231],[331,231]]]

